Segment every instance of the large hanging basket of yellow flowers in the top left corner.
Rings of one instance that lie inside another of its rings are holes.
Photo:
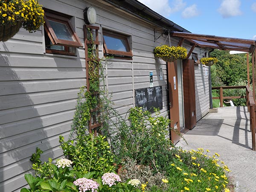
[[[38,0],[0,0],[0,41],[12,38],[21,26],[35,32],[43,24],[44,10]]]

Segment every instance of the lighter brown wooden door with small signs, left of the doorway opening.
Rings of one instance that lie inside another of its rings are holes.
[[[168,87],[169,87],[169,105],[171,127],[180,132],[180,117],[179,117],[179,93],[177,81],[177,63],[167,63],[168,69]],[[174,131],[171,131],[171,140],[176,144],[180,140],[180,136]]]

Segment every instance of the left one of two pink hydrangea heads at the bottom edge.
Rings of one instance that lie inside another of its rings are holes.
[[[99,184],[96,181],[84,177],[75,180],[73,183],[74,185],[79,186],[79,192],[97,192],[99,187]]]

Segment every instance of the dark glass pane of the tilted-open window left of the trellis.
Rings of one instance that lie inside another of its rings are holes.
[[[67,41],[75,41],[72,37],[70,30],[67,28],[66,24],[60,23],[57,21],[53,21],[53,20],[49,20],[49,19],[48,19],[48,21],[58,39],[63,39],[63,40],[67,40]]]

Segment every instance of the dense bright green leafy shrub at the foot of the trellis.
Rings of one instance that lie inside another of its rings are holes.
[[[64,155],[73,161],[73,169],[80,173],[96,172],[96,177],[115,170],[114,158],[105,137],[94,137],[89,134],[75,143],[73,140],[64,141],[60,136],[61,148]]]

